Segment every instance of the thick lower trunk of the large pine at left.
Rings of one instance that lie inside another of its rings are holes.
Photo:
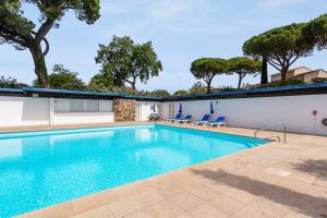
[[[37,75],[37,81],[40,87],[49,88],[48,82],[48,71],[46,65],[46,60],[41,50],[40,45],[33,47],[29,49],[33,56],[34,65],[35,65],[35,74]]]

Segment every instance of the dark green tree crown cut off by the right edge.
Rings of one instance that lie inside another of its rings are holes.
[[[327,14],[312,20],[304,27],[304,36],[308,43],[313,43],[318,49],[327,48]]]

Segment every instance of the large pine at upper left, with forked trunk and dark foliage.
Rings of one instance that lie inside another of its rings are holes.
[[[39,11],[39,25],[25,17],[23,3],[34,4]],[[74,11],[76,17],[93,24],[99,17],[99,0],[1,0],[0,4],[0,44],[12,44],[17,50],[28,49],[33,56],[35,73],[41,87],[48,87],[48,74],[45,57],[49,51],[47,34],[68,11]],[[46,48],[41,49],[41,41]]]

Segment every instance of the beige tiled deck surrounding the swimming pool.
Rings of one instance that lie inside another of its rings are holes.
[[[140,123],[114,125],[122,124]],[[327,137],[288,134],[286,144],[272,142],[20,217],[327,218]]]

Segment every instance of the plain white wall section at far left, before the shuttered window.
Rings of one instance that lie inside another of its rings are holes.
[[[0,96],[0,126],[49,124],[49,98]]]

